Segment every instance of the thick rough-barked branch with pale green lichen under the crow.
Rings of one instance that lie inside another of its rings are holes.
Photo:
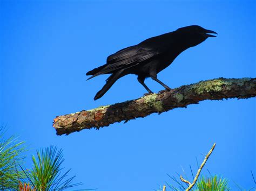
[[[250,98],[256,96],[256,79],[213,79],[181,86],[171,91],[146,95],[137,100],[106,105],[96,109],[83,110],[73,114],[58,116],[53,127],[57,135],[69,135],[82,129],[99,129],[115,122],[146,117],[154,112],[184,108],[203,100],[223,100],[223,98]]]

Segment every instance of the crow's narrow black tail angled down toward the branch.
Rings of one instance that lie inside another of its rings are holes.
[[[109,90],[109,88],[111,88],[111,86],[114,84],[114,82],[116,82],[120,77],[123,76],[122,72],[123,72],[123,70],[119,70],[118,72],[113,73],[111,76],[109,76],[106,79],[106,84],[95,95],[94,100],[98,100],[100,97],[102,97],[107,92],[107,90]]]

